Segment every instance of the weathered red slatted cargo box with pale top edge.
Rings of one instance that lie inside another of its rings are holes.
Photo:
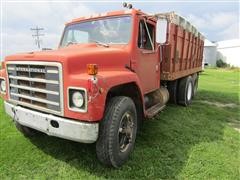
[[[174,12],[156,16],[168,20],[167,41],[162,45],[161,80],[172,81],[201,71],[203,35]]]

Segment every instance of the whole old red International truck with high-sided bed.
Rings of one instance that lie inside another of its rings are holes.
[[[203,36],[175,13],[126,9],[66,23],[56,50],[5,58],[5,111],[36,131],[96,143],[98,159],[123,165],[144,118],[170,100],[188,106],[202,70]]]

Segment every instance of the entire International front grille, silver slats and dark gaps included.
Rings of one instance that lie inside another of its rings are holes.
[[[62,115],[62,67],[59,63],[8,62],[9,100]]]

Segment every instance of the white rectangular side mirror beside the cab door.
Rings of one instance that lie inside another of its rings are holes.
[[[156,29],[157,43],[163,44],[167,41],[167,26],[168,26],[168,22],[166,19],[157,20],[157,29]]]

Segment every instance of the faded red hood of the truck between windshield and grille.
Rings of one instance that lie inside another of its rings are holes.
[[[37,51],[7,56],[6,61],[60,62],[70,74],[86,72],[87,64],[97,64],[101,70],[123,69],[130,64],[126,45],[103,47],[91,44],[76,44],[50,51]]]

